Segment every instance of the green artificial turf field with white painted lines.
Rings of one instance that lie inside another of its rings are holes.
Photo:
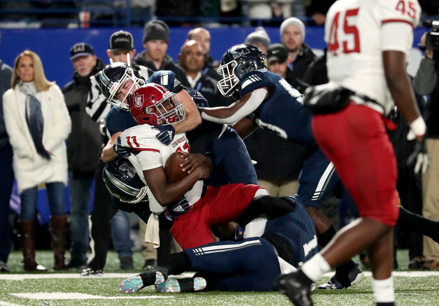
[[[68,256],[67,256],[68,257]],[[9,273],[0,274],[0,306],[4,305],[44,305],[44,306],[104,306],[104,305],[172,305],[172,306],[232,306],[232,305],[291,305],[288,299],[277,292],[196,292],[163,294],[150,286],[133,294],[122,294],[117,285],[126,276],[141,271],[143,259],[139,252],[134,253],[133,270],[120,270],[119,260],[114,251],[108,253],[107,266],[103,278],[79,278],[79,269],[68,270],[66,278],[58,272],[54,278],[40,278],[54,273],[52,253],[37,251],[37,261],[49,268],[49,271],[27,278],[22,269],[22,255],[12,252],[8,261]],[[407,271],[407,250],[398,250],[399,268],[395,271]],[[365,270],[368,271],[368,270]],[[121,273],[115,275],[114,273]],[[111,278],[108,278],[112,276]],[[4,278],[10,278],[5,280]],[[318,284],[327,281],[322,278]],[[439,305],[439,273],[427,277],[395,276],[396,304],[399,306]],[[63,295],[63,293],[67,295]],[[29,296],[28,294],[36,294]],[[78,295],[87,294],[87,295]],[[76,295],[76,296],[75,296]],[[67,299],[65,299],[67,298]],[[344,290],[316,290],[312,294],[316,306],[375,305],[372,293],[371,277],[365,277],[360,283]]]

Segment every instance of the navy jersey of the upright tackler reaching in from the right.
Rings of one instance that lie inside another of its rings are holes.
[[[314,143],[311,132],[311,114],[301,102],[302,95],[284,78],[267,69],[249,72],[241,80],[240,96],[255,89],[267,87],[269,96],[250,115],[255,123],[281,137],[305,146]]]

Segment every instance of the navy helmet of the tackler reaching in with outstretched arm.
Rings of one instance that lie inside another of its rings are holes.
[[[216,84],[219,92],[223,96],[232,96],[238,100],[240,98],[238,85],[244,75],[255,69],[264,68],[267,68],[265,53],[258,47],[246,44],[231,47],[224,53],[217,70],[223,77]]]

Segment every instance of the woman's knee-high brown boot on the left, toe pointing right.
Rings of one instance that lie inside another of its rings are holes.
[[[21,220],[23,263],[25,271],[47,271],[35,261],[35,224],[33,220]]]

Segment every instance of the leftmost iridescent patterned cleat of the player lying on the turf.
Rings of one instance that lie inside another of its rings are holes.
[[[159,271],[158,269],[162,270]],[[140,289],[163,283],[168,278],[168,272],[165,268],[155,268],[147,272],[130,276],[119,284],[119,290],[122,293],[133,293]]]

